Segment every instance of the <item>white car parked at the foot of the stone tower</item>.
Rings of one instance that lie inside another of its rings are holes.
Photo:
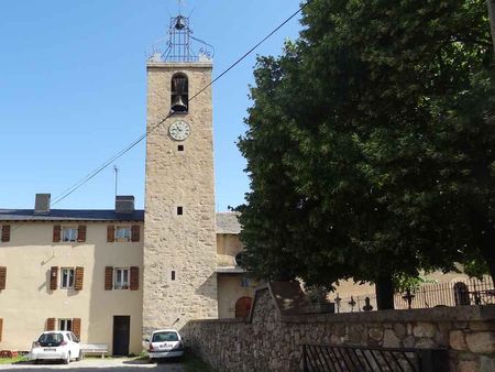
[[[155,330],[147,343],[147,355],[151,361],[158,358],[183,358],[184,344],[180,335],[175,329]]]

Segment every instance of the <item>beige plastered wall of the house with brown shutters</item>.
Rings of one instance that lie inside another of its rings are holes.
[[[80,318],[81,342],[107,343],[111,352],[113,316],[127,315],[130,352],[141,351],[142,242],[108,243],[106,222],[69,223],[86,225],[87,239],[81,243],[54,243],[53,225],[59,222],[10,225],[10,242],[0,242],[0,266],[7,266],[7,287],[0,291],[1,350],[29,350],[45,330],[46,319],[55,317]],[[82,266],[82,291],[61,289],[59,272],[58,289],[50,291],[52,266]],[[140,289],[105,291],[105,266],[139,266]]]

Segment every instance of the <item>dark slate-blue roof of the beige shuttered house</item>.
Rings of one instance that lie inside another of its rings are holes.
[[[35,215],[33,209],[0,209],[0,221],[144,221],[144,210],[117,214],[113,209],[51,209]]]

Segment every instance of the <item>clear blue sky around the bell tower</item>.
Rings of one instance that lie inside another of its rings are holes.
[[[194,36],[215,46],[220,75],[299,7],[299,0],[186,0]],[[176,0],[0,1],[0,208],[52,201],[145,132],[146,57],[165,46]],[[244,201],[249,178],[235,143],[252,106],[256,54],[279,55],[293,19],[213,86],[216,207]],[[118,194],[144,208],[145,141],[54,209],[112,209]]]

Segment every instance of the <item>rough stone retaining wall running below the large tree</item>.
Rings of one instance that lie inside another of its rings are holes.
[[[189,321],[186,344],[218,371],[301,371],[304,343],[447,348],[452,372],[495,371],[494,305],[294,315],[273,288],[256,291],[246,320]]]

